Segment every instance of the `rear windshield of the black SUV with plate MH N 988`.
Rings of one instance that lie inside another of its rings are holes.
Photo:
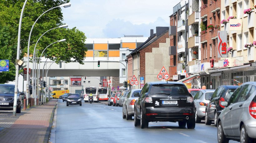
[[[182,84],[156,84],[151,86],[150,94],[187,95],[188,90]]]

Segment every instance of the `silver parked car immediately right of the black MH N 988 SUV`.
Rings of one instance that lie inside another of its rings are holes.
[[[200,123],[205,116],[205,107],[209,103],[209,98],[212,97],[215,90],[202,89],[194,96],[195,103],[195,123]]]

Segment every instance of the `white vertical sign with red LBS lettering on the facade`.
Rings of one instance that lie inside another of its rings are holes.
[[[218,31],[218,58],[227,57],[227,31]]]

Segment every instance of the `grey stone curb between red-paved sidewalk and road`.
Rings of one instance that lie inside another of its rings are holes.
[[[54,108],[54,110],[52,111],[52,117],[51,117],[51,120],[50,122],[52,122],[51,125],[49,125],[50,127],[50,134],[49,134],[49,138],[48,138],[48,142],[49,143],[54,143],[55,142],[55,136],[56,136],[56,120],[57,120],[57,116],[54,116],[54,115],[57,115],[57,109],[58,109],[58,100],[56,102],[56,106]]]

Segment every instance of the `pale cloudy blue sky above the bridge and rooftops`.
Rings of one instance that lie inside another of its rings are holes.
[[[170,26],[172,8],[179,0],[71,0],[62,8],[63,22],[87,38],[150,36],[156,26]]]

